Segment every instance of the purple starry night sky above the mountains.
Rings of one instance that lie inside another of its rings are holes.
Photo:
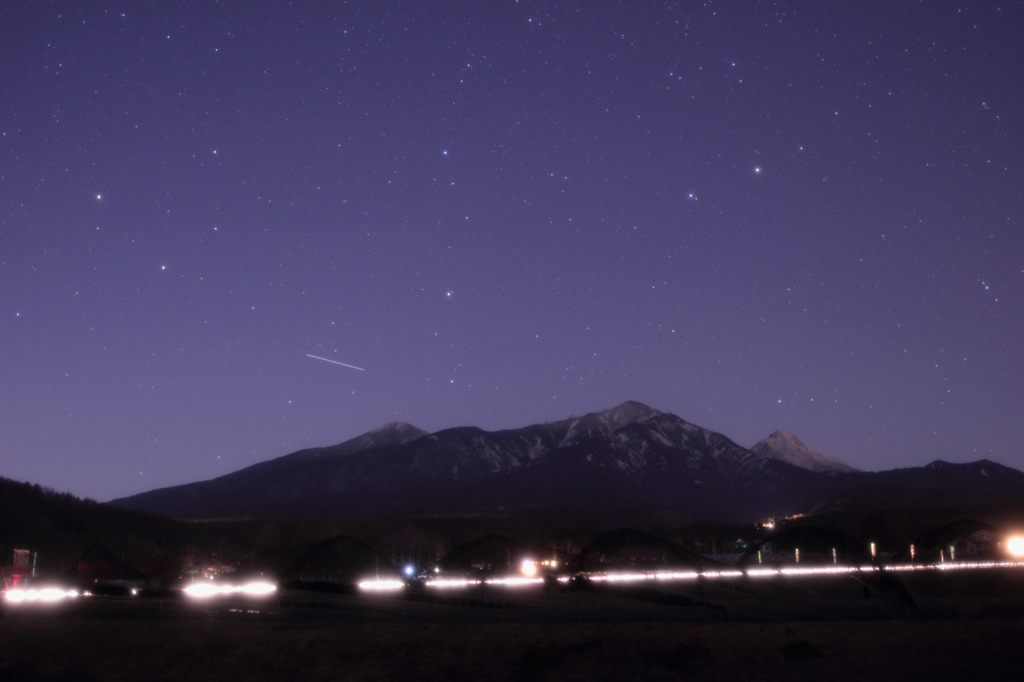
[[[1022,65],[1016,2],[5,2],[0,475],[627,399],[1024,468]]]

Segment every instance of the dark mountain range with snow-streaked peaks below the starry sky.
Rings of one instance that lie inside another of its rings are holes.
[[[776,431],[748,450],[669,413],[610,410],[484,431],[386,424],[212,480],[110,504],[177,518],[458,517],[611,520],[671,512],[757,521],[828,509],[1024,502],[995,462],[857,471]]]

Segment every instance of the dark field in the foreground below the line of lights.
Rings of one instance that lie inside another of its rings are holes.
[[[0,611],[0,680],[1017,679],[1014,572]]]

